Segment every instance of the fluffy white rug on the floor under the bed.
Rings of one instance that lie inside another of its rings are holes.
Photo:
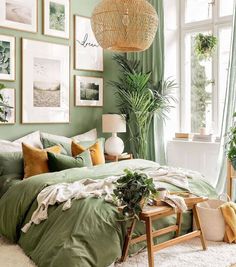
[[[202,251],[199,239],[170,247],[155,254],[158,267],[236,267],[236,244],[208,242],[208,250]],[[34,263],[17,245],[0,238],[0,266],[35,267]],[[147,267],[147,252],[131,257],[115,267]]]

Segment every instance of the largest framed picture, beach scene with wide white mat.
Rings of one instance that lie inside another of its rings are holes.
[[[22,42],[22,122],[68,123],[69,46],[28,39]]]

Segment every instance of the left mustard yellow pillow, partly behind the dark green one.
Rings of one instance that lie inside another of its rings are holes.
[[[24,178],[28,178],[33,175],[49,172],[47,152],[60,154],[61,146],[52,146],[42,150],[22,143],[22,151],[24,157]]]

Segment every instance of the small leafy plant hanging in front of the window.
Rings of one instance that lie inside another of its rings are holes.
[[[200,60],[210,59],[216,49],[217,38],[210,34],[199,33],[195,36],[195,53]]]

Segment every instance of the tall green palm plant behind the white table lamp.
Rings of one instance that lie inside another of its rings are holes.
[[[130,136],[131,151],[136,158],[147,158],[148,134],[154,114],[166,118],[171,109],[171,90],[176,83],[171,79],[151,83],[151,72],[143,73],[140,61],[115,55],[114,60],[120,65],[118,81],[110,84],[116,89],[117,105],[121,114],[126,116]]]

